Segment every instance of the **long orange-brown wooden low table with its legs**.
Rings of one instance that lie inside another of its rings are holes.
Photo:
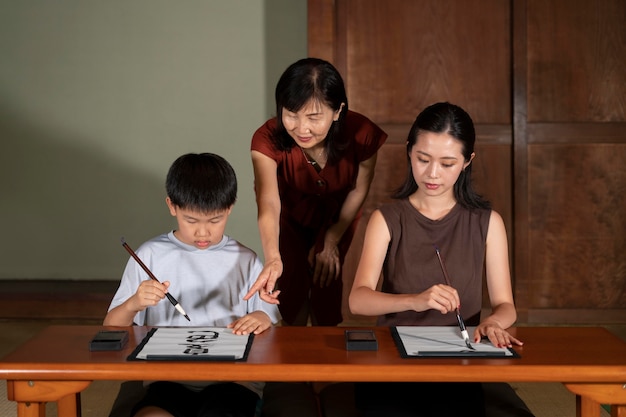
[[[97,380],[561,382],[577,416],[600,404],[626,417],[626,342],[599,327],[518,327],[512,359],[403,359],[389,328],[373,327],[377,351],[347,351],[343,327],[275,327],[256,336],[246,362],[145,362],[127,356],[150,330],[128,327],[122,351],[90,352],[102,326],[50,326],[0,361],[19,417],[80,416],[80,392]]]

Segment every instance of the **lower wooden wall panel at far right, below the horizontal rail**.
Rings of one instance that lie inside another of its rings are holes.
[[[626,145],[529,149],[529,309],[626,306]]]

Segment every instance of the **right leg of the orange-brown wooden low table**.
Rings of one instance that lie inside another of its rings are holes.
[[[626,417],[626,384],[564,384],[576,394],[577,417],[600,417],[600,404],[611,405],[611,417]]]

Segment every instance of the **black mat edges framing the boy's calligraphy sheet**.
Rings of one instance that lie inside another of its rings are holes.
[[[163,330],[165,329],[165,330]],[[215,355],[215,354],[184,354],[184,353],[176,353],[176,354],[171,354],[171,353],[167,353],[167,352],[162,352],[162,353],[151,353],[151,354],[146,354],[143,355],[143,351],[146,348],[146,346],[149,344],[150,340],[152,340],[153,336],[155,335],[155,333],[159,330],[163,331],[167,331],[167,329],[173,329],[173,328],[169,328],[169,327],[155,327],[150,329],[150,331],[148,332],[148,334],[146,334],[146,336],[143,338],[143,340],[141,341],[141,343],[139,343],[137,345],[137,347],[133,350],[133,352],[128,355],[128,357],[126,358],[128,361],[199,361],[199,362],[245,362],[248,360],[248,354],[250,353],[250,348],[252,347],[252,343],[254,341],[254,334],[248,334],[248,335],[236,335],[235,337],[238,338],[244,338],[245,339],[245,349],[243,351],[242,356],[238,356],[238,355],[229,355],[229,354],[219,354],[219,355]],[[181,328],[176,328],[176,329],[195,329],[196,331],[201,331],[201,330],[210,330],[210,331],[217,331],[217,330],[224,330],[223,328],[214,328],[214,327],[207,327],[207,328],[192,328],[192,327],[181,327]]]

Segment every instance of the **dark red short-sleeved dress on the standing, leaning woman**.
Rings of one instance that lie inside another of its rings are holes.
[[[387,134],[365,116],[349,111],[342,135],[354,140],[337,163],[326,164],[317,172],[300,147],[286,151],[276,149],[271,140],[275,127],[276,118],[261,126],[252,137],[251,149],[272,158],[278,165],[279,250],[283,261],[283,275],[277,283],[281,290],[280,312],[283,320],[291,323],[309,300],[317,324],[334,326],[342,321],[343,284],[335,280],[325,288],[313,286],[309,250],[313,245],[316,253],[323,249],[326,231],[337,222],[346,196],[356,185],[359,163],[378,151]],[[339,242],[342,265],[360,215],[359,212]]]

